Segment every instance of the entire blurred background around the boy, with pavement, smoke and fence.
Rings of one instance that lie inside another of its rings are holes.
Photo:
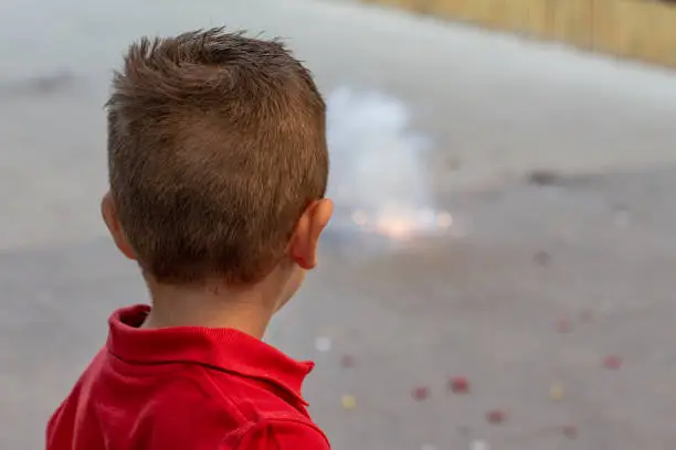
[[[98,215],[112,69],[223,24],[286,39],[329,105],[337,215],[267,339],[318,363],[335,449],[674,448],[676,9],[370,3],[2,1],[1,449],[43,447],[147,301]]]

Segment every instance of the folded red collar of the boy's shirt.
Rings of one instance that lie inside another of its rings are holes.
[[[150,307],[123,308],[110,315],[107,349],[137,364],[196,363],[258,378],[292,394],[304,405],[303,381],[314,363],[292,360],[273,346],[234,329],[139,328]]]

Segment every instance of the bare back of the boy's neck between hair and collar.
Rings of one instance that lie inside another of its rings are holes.
[[[255,290],[148,287],[152,309],[142,328],[231,328],[262,339],[275,312],[274,301]]]

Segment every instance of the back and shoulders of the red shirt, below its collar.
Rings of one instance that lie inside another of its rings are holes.
[[[47,450],[104,440],[109,449],[329,449],[284,388],[193,364],[146,374],[120,365],[106,350],[94,358],[52,416]]]

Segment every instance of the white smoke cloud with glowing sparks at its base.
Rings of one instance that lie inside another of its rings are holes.
[[[451,225],[447,213],[435,212],[427,182],[431,141],[410,129],[403,101],[340,88],[327,104],[329,196],[338,226],[400,239]]]

